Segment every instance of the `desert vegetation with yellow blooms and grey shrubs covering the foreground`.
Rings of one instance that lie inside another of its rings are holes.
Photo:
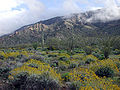
[[[120,90],[119,42],[118,36],[49,38],[1,47],[0,89]]]

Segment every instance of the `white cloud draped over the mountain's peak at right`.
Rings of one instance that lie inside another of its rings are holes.
[[[100,2],[104,4],[104,8],[88,19],[88,21],[100,20],[106,22],[120,19],[120,7],[118,7],[116,0],[100,0]]]

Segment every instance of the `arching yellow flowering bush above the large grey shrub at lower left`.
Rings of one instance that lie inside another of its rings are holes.
[[[33,65],[33,66],[32,66]],[[37,67],[34,67],[37,66]],[[28,62],[24,63],[23,66],[18,67],[10,71],[11,75],[10,78],[13,78],[15,75],[21,73],[21,72],[27,72],[29,75],[41,75],[45,72],[49,72],[52,77],[54,77],[55,80],[62,80],[61,75],[57,74],[56,71],[50,67],[49,64],[41,63],[37,60],[29,60]]]

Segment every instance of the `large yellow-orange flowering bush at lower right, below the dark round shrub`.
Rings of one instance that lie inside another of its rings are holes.
[[[70,81],[77,82],[83,90],[119,90],[120,87],[114,85],[111,79],[99,78],[92,70],[85,68],[75,68],[70,73]],[[79,83],[78,83],[79,82]]]

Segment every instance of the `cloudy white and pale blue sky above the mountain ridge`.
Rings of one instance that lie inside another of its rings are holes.
[[[0,35],[40,20],[100,8],[106,8],[104,14],[94,17],[115,19],[120,16],[118,6],[120,0],[0,0]]]

